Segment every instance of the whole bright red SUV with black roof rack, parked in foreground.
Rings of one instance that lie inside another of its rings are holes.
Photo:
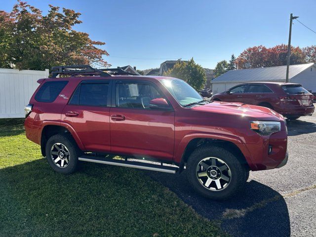
[[[287,162],[283,116],[204,100],[181,79],[65,66],[39,83],[25,107],[26,136],[63,174],[79,161],[168,173],[185,168],[197,192],[224,199],[242,189],[249,170]]]

